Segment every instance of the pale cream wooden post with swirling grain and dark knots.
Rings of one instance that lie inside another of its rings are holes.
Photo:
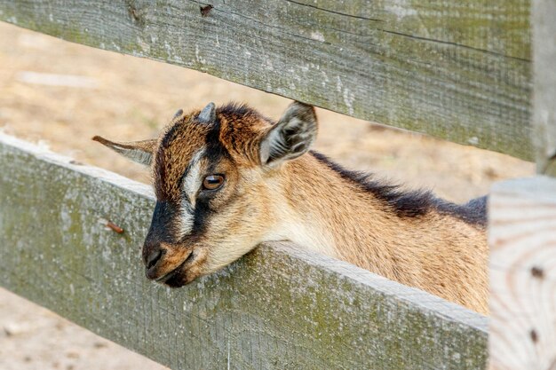
[[[489,202],[491,367],[556,370],[556,180],[500,183]]]

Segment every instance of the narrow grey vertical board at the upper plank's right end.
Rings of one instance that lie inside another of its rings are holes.
[[[538,172],[556,176],[556,2],[533,0],[533,127]]]

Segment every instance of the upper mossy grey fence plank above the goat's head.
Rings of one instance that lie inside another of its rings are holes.
[[[533,159],[529,0],[0,0],[0,20]],[[184,98],[187,98],[187,87]]]

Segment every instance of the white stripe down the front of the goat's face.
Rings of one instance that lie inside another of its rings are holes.
[[[181,237],[183,238],[193,230],[193,222],[195,216],[195,195],[203,183],[201,175],[201,157],[203,157],[204,148],[197,152],[189,165],[186,177],[183,179],[183,191],[187,194],[189,201],[181,202]]]

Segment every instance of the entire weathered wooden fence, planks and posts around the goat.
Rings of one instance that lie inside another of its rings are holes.
[[[553,0],[208,5],[0,0],[0,20],[556,173]],[[138,250],[153,207],[145,186],[13,138],[0,154],[2,284],[167,366],[487,366],[486,318],[284,244],[179,290],[150,284]],[[491,194],[492,368],[556,369],[555,184],[539,176]]]

